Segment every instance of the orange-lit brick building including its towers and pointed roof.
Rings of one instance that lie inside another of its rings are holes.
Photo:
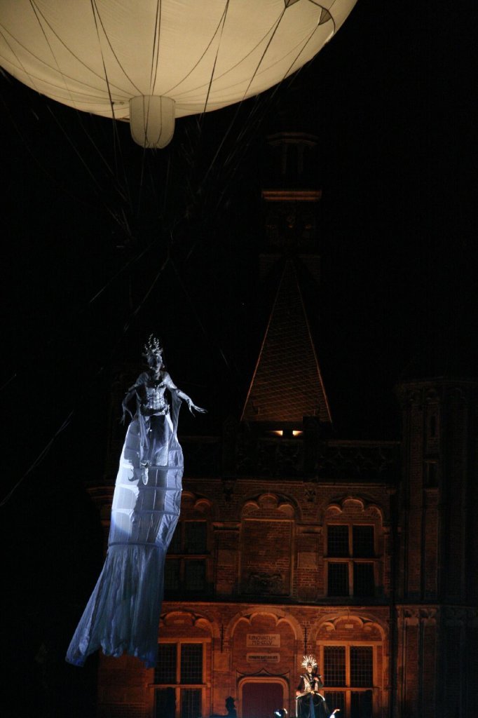
[[[314,139],[271,146],[262,266],[276,295],[243,414],[221,436],[182,437],[158,667],[101,656],[98,717],[233,715],[231,697],[239,718],[295,714],[304,653],[342,718],[471,716],[478,384],[406,381],[400,441],[332,438],[301,294],[318,266],[320,192],[300,179]],[[90,493],[107,530],[113,486]]]

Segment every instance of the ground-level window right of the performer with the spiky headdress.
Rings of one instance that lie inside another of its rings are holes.
[[[342,718],[372,718],[373,646],[326,645],[325,700]]]

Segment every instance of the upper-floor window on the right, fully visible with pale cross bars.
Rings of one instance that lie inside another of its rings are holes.
[[[327,526],[327,594],[375,595],[375,532],[367,524]]]

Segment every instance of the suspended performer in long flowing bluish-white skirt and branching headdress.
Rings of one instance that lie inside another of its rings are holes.
[[[164,561],[181,504],[179,407],[186,401],[192,414],[205,413],[175,386],[162,356],[151,335],[144,347],[149,369],[123,400],[123,421],[126,413],[132,421],[116,477],[106,561],[67,651],[75,666],[98,648],[106,656],[137,656],[146,668],[156,665]],[[134,416],[128,409],[133,398]]]

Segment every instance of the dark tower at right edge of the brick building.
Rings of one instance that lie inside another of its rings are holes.
[[[477,388],[398,387],[397,715],[465,717],[477,705]]]

